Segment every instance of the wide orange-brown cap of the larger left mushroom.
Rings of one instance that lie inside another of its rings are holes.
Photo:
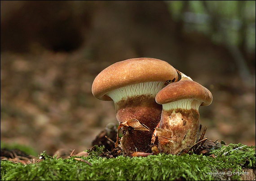
[[[143,82],[178,80],[176,70],[167,62],[153,58],[127,59],[106,67],[92,85],[93,95],[103,101],[112,99],[105,95],[117,88]]]

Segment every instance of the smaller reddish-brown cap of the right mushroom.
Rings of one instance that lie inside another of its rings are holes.
[[[155,97],[158,104],[168,104],[182,99],[195,99],[202,102],[201,106],[207,106],[212,103],[212,93],[195,81],[183,80],[167,85]]]

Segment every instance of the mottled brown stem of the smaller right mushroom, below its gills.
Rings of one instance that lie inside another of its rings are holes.
[[[178,154],[199,139],[199,111],[196,109],[163,110],[157,132],[159,152]]]

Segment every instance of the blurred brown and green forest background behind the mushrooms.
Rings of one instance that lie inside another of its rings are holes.
[[[93,97],[110,64],[150,57],[208,88],[206,136],[255,145],[256,1],[0,1],[0,136],[83,151],[113,122]]]

